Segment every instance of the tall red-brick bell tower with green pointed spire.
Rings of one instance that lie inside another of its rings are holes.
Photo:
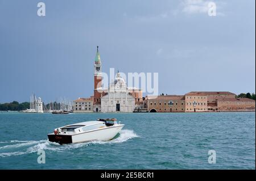
[[[97,46],[97,52],[96,57],[94,61],[94,98],[93,98],[93,104],[98,104],[100,106],[101,104],[101,92],[97,91],[98,88],[101,87],[101,57],[100,53],[98,52],[98,46]],[[95,105],[97,107],[97,105]],[[99,108],[96,111],[100,111]]]

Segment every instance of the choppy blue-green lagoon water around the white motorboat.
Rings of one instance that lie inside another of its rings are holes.
[[[56,127],[112,117],[125,124],[114,140],[47,140]],[[255,112],[0,113],[0,169],[255,169]]]

